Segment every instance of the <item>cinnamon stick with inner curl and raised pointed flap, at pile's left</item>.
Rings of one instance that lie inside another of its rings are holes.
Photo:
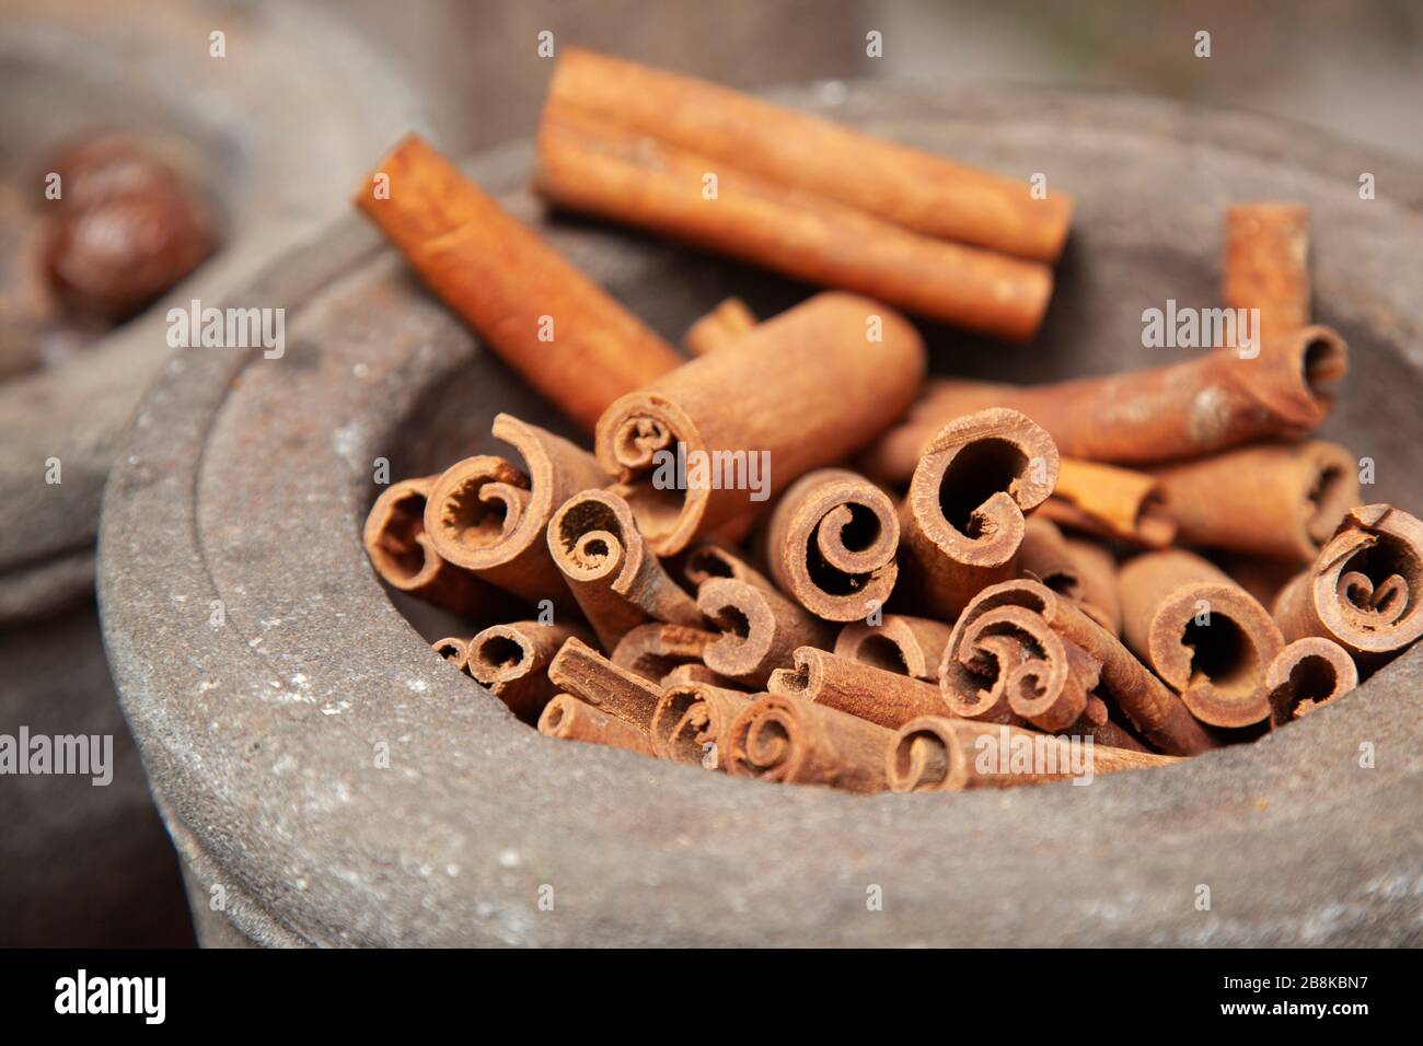
[[[569,497],[603,485],[602,470],[588,451],[512,414],[495,416],[492,433],[519,453],[527,471],[487,454],[450,465],[425,505],[430,539],[450,562],[531,603],[571,608],[544,532]]]

